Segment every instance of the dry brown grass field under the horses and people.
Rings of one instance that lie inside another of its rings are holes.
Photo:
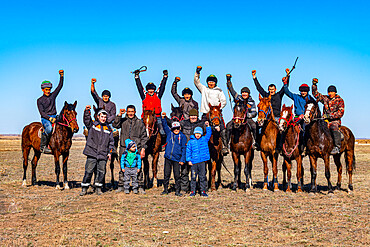
[[[68,166],[70,190],[55,189],[52,156],[42,156],[38,186],[22,187],[19,138],[0,139],[1,246],[369,246],[370,145],[356,146],[354,193],[326,191],[323,162],[320,192],[313,194],[263,191],[262,163],[256,153],[255,188],[246,193],[226,187],[232,178],[223,169],[223,185],[209,198],[161,196],[162,187],[146,195],[108,191],[80,197],[84,174],[84,141],[75,141]],[[279,182],[282,182],[282,158]],[[226,164],[232,172],[228,157]],[[271,168],[271,166],[269,165]],[[304,159],[305,189],[309,189],[308,158]],[[118,177],[118,165],[115,168]],[[163,178],[163,155],[159,165]],[[295,164],[293,174],[296,172]],[[336,167],[331,165],[332,183]],[[245,180],[244,175],[243,181]],[[271,169],[270,169],[270,176]],[[107,181],[110,175],[107,173]],[[296,185],[296,177],[293,177]],[[171,180],[173,183],[173,180]]]

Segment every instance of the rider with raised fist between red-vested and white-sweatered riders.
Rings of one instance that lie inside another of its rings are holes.
[[[183,120],[187,120],[189,119],[189,111],[191,109],[198,110],[199,107],[198,107],[198,103],[193,99],[193,91],[190,88],[188,87],[184,88],[184,90],[182,90],[183,97],[180,97],[180,95],[177,93],[177,83],[179,81],[180,81],[180,77],[176,77],[175,81],[172,84],[171,94],[183,110],[183,114],[184,114]],[[180,119],[180,121],[181,120],[182,119]]]

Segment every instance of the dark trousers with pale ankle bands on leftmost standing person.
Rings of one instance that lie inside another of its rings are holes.
[[[96,169],[95,186],[102,187],[104,183],[106,164],[106,160],[98,160],[93,157],[87,157],[85,164],[85,175],[82,179],[81,186],[88,187],[90,185],[91,178],[94,174],[94,170]]]

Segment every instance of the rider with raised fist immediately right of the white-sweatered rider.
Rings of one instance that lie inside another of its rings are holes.
[[[252,118],[257,116],[257,109],[256,109],[256,103],[254,102],[252,96],[250,95],[251,91],[248,87],[243,87],[240,91],[240,94],[238,94],[233,87],[233,84],[231,83],[231,75],[226,75],[227,79],[227,88],[229,89],[231,95],[234,98],[235,102],[243,102],[245,107],[247,108],[246,118],[247,118],[247,124],[249,125],[253,139],[255,142],[253,143],[253,147],[257,148],[257,142],[256,142],[256,122],[252,120]],[[230,136],[231,136],[231,130],[232,130],[232,122],[230,121],[226,125],[227,129],[227,143],[230,142]]]

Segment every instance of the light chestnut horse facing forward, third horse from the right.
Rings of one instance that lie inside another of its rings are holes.
[[[259,95],[260,103],[258,107],[258,117],[257,124],[261,129],[261,158],[264,164],[264,183],[263,190],[268,190],[268,166],[267,166],[267,157],[272,163],[272,172],[273,172],[273,184],[274,191],[279,190],[279,184],[277,180],[277,161],[278,161],[278,152],[276,151],[277,139],[279,135],[279,129],[275,123],[274,113],[271,106],[271,95],[269,97],[263,98]]]

